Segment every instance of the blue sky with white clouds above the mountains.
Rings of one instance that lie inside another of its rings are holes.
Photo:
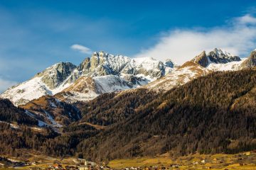
[[[0,0],[0,91],[98,50],[182,63],[217,46],[244,57],[256,47],[255,11],[249,0]]]

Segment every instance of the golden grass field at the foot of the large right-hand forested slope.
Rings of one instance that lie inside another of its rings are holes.
[[[181,164],[178,169],[255,169],[256,154],[244,152],[240,154],[191,154],[186,157],[141,157],[134,159],[116,159],[110,162],[113,169],[125,167],[164,166],[175,169],[171,164]],[[176,168],[177,169],[177,168]]]

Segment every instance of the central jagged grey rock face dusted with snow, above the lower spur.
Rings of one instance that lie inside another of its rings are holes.
[[[77,72],[70,77],[90,76],[107,76],[121,74],[143,74],[150,77],[162,77],[165,74],[165,69],[174,68],[174,63],[171,61],[160,62],[152,58],[132,59],[122,55],[110,55],[106,52],[94,52],[92,57],[86,58],[77,68]]]

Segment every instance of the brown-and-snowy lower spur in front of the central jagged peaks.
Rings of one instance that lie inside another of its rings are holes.
[[[54,96],[60,101],[74,103],[77,101],[89,101],[100,94],[134,89],[148,84],[144,77],[125,75],[107,75],[101,77],[80,77],[74,84]]]

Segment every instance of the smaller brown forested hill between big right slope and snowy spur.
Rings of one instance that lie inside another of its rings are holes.
[[[134,89],[120,94],[102,94],[95,100],[82,105],[84,114],[80,122],[96,125],[112,125],[134,115],[135,108],[146,105],[156,97],[153,91]]]

